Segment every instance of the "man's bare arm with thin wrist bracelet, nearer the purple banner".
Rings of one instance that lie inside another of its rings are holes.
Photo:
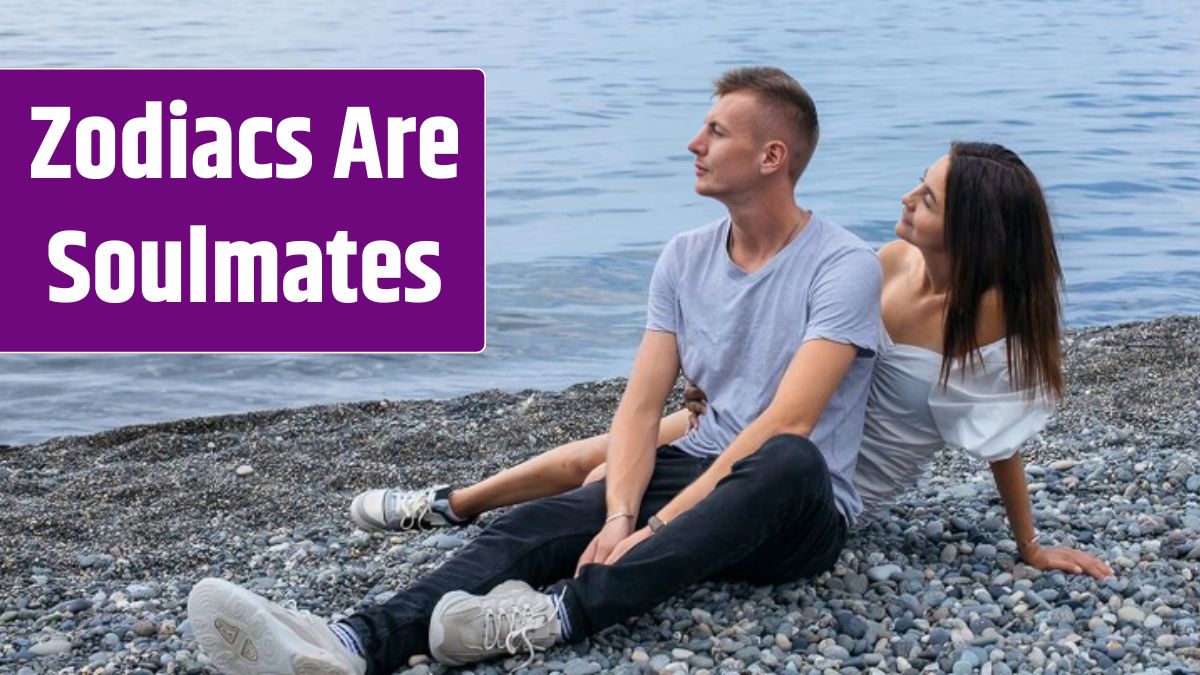
[[[679,348],[672,333],[647,330],[634,358],[625,394],[612,419],[605,491],[608,515],[616,516],[592,539],[578,567],[604,562],[613,546],[634,530],[642,496],[654,473],[654,442],[662,406],[679,375]],[[617,515],[625,514],[625,515]]]

